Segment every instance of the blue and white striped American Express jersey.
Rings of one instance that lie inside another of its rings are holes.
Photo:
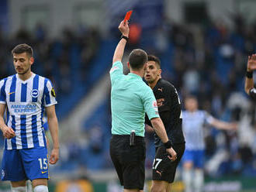
[[[57,104],[50,81],[33,74],[26,81],[18,74],[0,81],[0,103],[5,104],[5,123],[16,136],[5,139],[5,149],[27,149],[47,146],[43,132],[45,107]]]

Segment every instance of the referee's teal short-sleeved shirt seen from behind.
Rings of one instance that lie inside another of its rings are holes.
[[[112,134],[130,135],[135,130],[136,135],[144,137],[145,112],[149,119],[159,117],[153,91],[139,75],[124,75],[120,61],[113,63],[109,74],[112,85]]]

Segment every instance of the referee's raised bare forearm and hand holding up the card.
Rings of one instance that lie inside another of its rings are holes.
[[[123,36],[126,36],[128,38],[129,36],[129,26],[128,26],[128,21],[120,22],[118,29],[122,33]],[[116,61],[121,61],[123,58],[123,51],[126,46],[126,39],[122,38],[120,39],[118,45],[116,46],[116,50],[113,56],[112,63],[116,63]]]

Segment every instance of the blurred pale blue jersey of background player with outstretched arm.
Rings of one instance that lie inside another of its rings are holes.
[[[185,135],[185,149],[205,149],[203,127],[213,122],[213,116],[206,111],[182,111],[182,129]]]

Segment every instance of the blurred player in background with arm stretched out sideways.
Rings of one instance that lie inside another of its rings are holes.
[[[185,98],[185,111],[182,112],[182,117],[186,141],[182,157],[185,192],[199,192],[203,190],[204,181],[204,125],[212,125],[216,129],[236,130],[237,124],[220,121],[206,111],[199,110],[198,101],[193,96]]]

